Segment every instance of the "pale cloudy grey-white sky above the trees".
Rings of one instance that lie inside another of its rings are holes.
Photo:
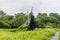
[[[37,15],[38,12],[60,13],[60,0],[0,0],[0,10],[9,15],[30,12],[32,7],[34,15]]]

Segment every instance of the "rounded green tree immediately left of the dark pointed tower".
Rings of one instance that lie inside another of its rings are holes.
[[[13,20],[11,20],[10,25],[12,26],[12,28],[18,28],[20,27],[22,24],[24,24],[27,20],[27,15],[24,13],[17,13],[15,15],[15,18]]]

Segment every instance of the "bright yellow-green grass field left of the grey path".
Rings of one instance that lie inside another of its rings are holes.
[[[35,29],[33,31],[10,32],[11,29],[0,29],[0,40],[50,40],[55,29]]]

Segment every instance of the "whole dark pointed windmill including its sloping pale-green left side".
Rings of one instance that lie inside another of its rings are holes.
[[[20,30],[21,28],[23,28],[24,30],[24,27],[26,28],[26,26],[27,26],[27,30],[33,30],[35,28],[35,21],[34,21],[34,16],[32,11],[33,11],[33,8],[31,9],[31,12],[29,13],[28,19],[26,20],[26,22],[22,24],[19,28],[17,28],[17,30]]]

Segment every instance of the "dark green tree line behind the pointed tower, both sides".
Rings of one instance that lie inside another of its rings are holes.
[[[0,28],[22,28],[27,19],[27,13],[20,12],[12,16],[0,10]],[[49,13],[49,15],[38,13],[34,17],[34,21],[36,28],[60,28],[60,15],[58,13]]]

